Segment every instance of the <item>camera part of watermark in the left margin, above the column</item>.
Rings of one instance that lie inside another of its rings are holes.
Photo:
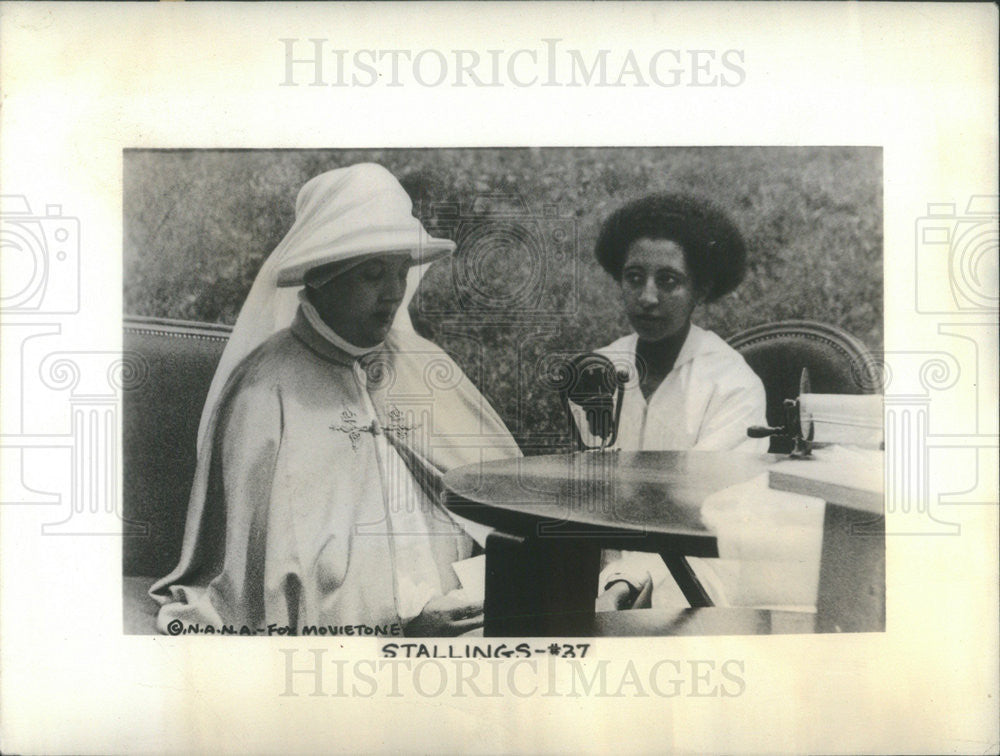
[[[23,195],[0,197],[0,259],[4,313],[80,311],[80,221],[61,205],[36,215]]]

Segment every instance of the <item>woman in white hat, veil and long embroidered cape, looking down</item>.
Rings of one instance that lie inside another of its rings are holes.
[[[302,188],[212,381],[180,563],[150,590],[161,631],[481,622],[452,564],[482,531],[444,510],[440,476],[520,452],[404,303],[453,249],[381,166]]]

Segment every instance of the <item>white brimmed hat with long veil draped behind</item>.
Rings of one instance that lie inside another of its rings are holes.
[[[295,223],[257,274],[222,352],[201,413],[199,451],[230,374],[272,334],[291,325],[307,271],[342,260],[409,252],[420,265],[410,269],[393,328],[412,330],[407,305],[421,275],[454,249],[449,239],[427,233],[413,217],[409,195],[380,165],[359,163],[308,181],[295,202]]]

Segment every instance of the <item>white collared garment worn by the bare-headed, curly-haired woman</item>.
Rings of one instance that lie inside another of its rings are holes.
[[[768,439],[747,437],[751,425],[766,425],[764,384],[743,357],[711,331],[692,325],[670,373],[647,401],[639,388],[635,365],[638,335],[625,336],[598,349],[616,366],[628,367],[615,448],[625,451],[738,451],[764,453]],[[585,438],[589,434],[581,428]],[[592,437],[591,437],[592,438]],[[726,576],[737,570],[727,560],[689,558],[716,604],[728,604]],[[658,554],[622,552],[601,573],[600,588],[625,580],[638,588],[653,583],[653,606],[687,606]]]

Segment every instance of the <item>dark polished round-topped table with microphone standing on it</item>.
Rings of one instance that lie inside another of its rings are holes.
[[[583,452],[469,465],[446,506],[496,529],[486,544],[484,635],[590,635],[601,549],[658,552],[692,606],[710,606],[684,557],[716,557],[705,497],[780,455]]]

